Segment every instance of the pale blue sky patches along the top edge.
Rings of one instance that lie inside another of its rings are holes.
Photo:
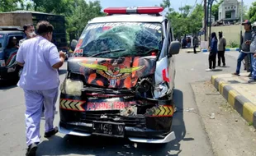
[[[100,0],[103,8],[106,7],[134,7],[134,6],[155,6],[159,5],[163,0]],[[239,0],[240,1],[240,0]],[[246,6],[251,5],[255,0],[244,0]],[[178,11],[178,7],[184,5],[193,6],[196,0],[170,0],[171,6]],[[197,3],[201,3],[201,0],[197,0]]]

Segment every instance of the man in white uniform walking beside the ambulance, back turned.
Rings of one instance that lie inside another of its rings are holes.
[[[55,135],[55,103],[58,97],[59,74],[65,54],[52,44],[54,27],[48,21],[36,25],[35,38],[27,39],[17,52],[17,63],[23,65],[18,86],[24,90],[26,101],[26,156],[36,155],[40,143],[40,114],[45,106],[45,137]]]

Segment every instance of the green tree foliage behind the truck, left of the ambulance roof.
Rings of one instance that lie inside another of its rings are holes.
[[[20,2],[18,8],[17,2]],[[86,0],[0,0],[1,11],[42,11],[65,16],[68,40],[78,39],[88,21],[105,16],[100,1]]]

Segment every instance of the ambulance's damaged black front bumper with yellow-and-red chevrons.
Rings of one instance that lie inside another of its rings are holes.
[[[59,132],[66,135],[125,137],[140,143],[167,143],[175,139],[171,131],[173,105],[170,101],[124,97],[102,99],[67,94],[60,94],[59,101]],[[122,126],[121,134],[117,129],[112,129],[111,135],[99,133],[97,124],[102,126],[106,122]]]

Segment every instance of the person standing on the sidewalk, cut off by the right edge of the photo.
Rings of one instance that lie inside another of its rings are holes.
[[[252,41],[250,44],[250,52],[251,52],[251,64],[252,64],[252,77],[248,81],[256,82],[256,21],[252,25],[253,33],[252,33]]]

